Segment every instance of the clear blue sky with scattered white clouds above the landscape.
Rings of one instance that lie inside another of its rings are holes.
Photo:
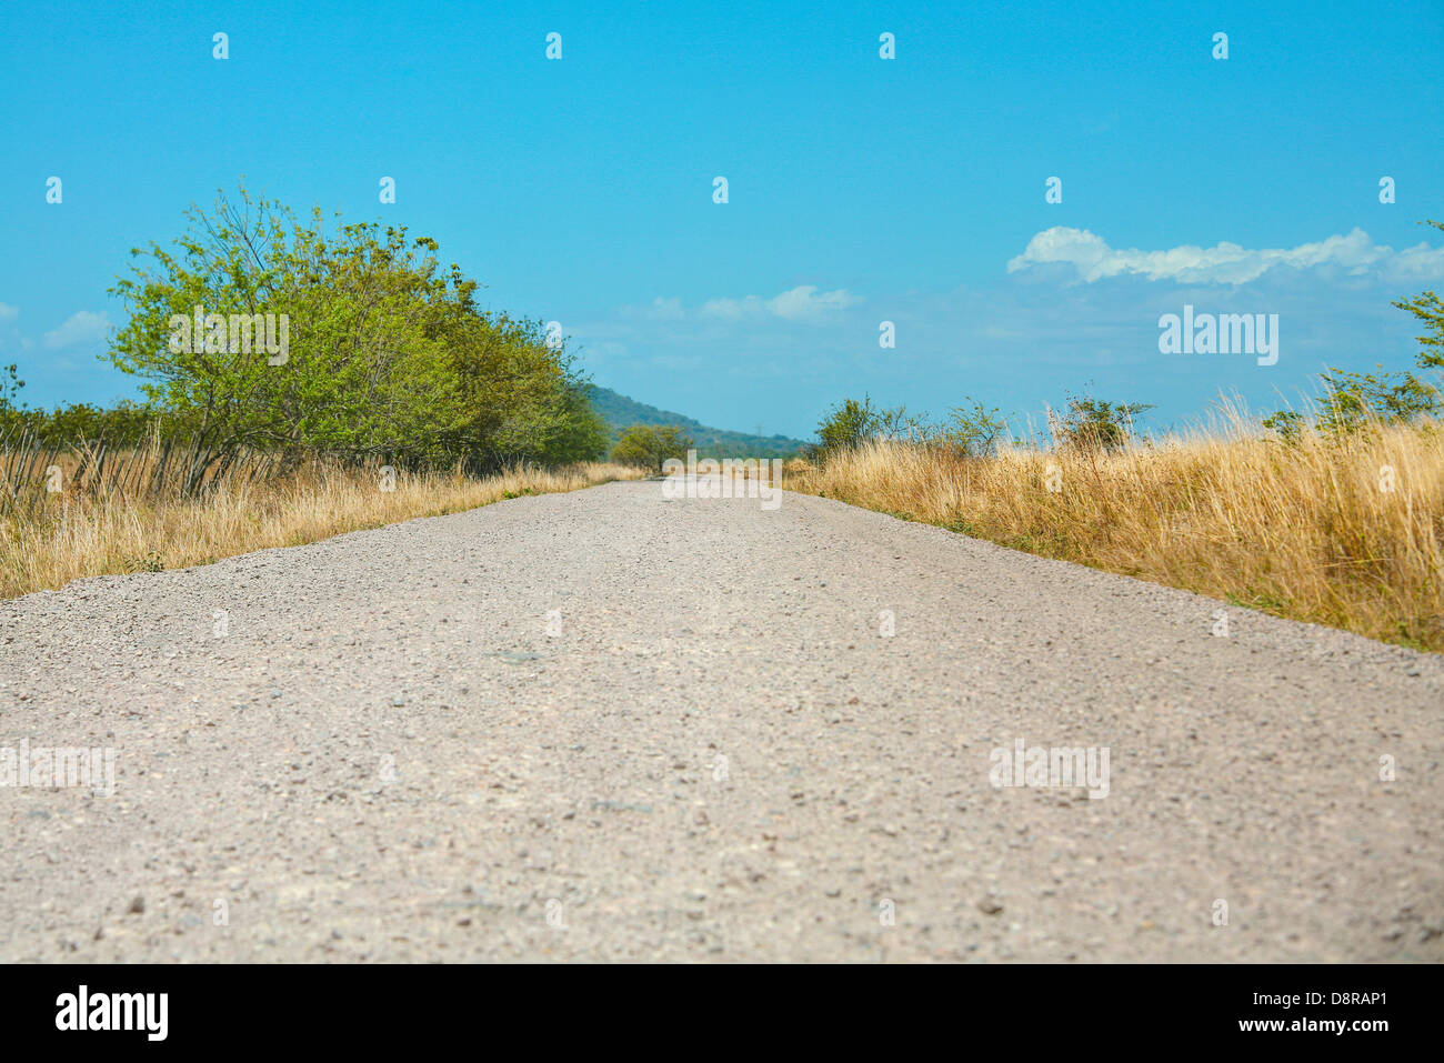
[[[32,404],[134,393],[105,289],[244,175],[438,238],[598,383],[723,428],[806,436],[865,391],[1167,428],[1406,368],[1389,300],[1444,286],[1444,6],[1259,7],[7,3],[0,361]],[[1160,354],[1186,303],[1279,315],[1278,363]]]

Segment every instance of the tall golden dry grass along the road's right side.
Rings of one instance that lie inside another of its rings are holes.
[[[1060,490],[1050,491],[1054,472]],[[1287,445],[1233,419],[1113,454],[1004,449],[983,459],[882,442],[790,468],[786,485],[1444,651],[1438,425]]]

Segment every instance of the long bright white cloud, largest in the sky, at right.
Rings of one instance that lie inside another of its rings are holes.
[[[1077,270],[1086,283],[1141,274],[1149,280],[1177,280],[1186,285],[1243,285],[1271,269],[1311,269],[1334,266],[1350,274],[1378,274],[1398,280],[1444,277],[1444,248],[1428,244],[1395,251],[1376,244],[1369,234],[1354,228],[1349,235],[1333,235],[1315,244],[1251,250],[1239,244],[1216,247],[1184,244],[1164,251],[1119,250],[1087,230],[1054,227],[1028,241],[1022,254],[1008,263],[1017,273],[1031,266],[1064,263]]]

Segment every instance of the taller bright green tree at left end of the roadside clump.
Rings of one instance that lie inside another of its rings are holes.
[[[218,451],[425,448],[455,412],[439,371],[446,293],[426,256],[435,243],[377,225],[344,225],[328,238],[319,209],[308,225],[244,189],[240,204],[222,195],[214,214],[188,217],[176,253],[133,251],[136,277],[111,289],[131,313],[110,357],[146,378],[152,402],[195,412],[202,442]],[[178,337],[196,306],[227,319],[284,316],[284,363],[254,344],[245,351],[243,337],[232,345],[224,328]]]

